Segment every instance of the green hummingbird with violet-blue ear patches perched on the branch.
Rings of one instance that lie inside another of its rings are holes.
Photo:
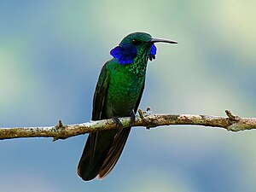
[[[118,118],[129,116],[132,125],[143,96],[148,59],[155,59],[154,43],[159,42],[177,44],[133,32],[110,51],[113,59],[103,65],[96,84],[92,120],[113,119],[121,125]],[[119,160],[130,131],[131,127],[91,132],[79,160],[79,177],[84,181],[106,177]]]

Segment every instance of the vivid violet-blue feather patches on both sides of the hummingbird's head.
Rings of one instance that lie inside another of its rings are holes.
[[[137,49],[135,46],[131,46],[129,44],[122,44],[113,48],[110,51],[110,55],[112,55],[113,58],[117,59],[119,64],[128,65],[131,64],[133,62],[133,59],[137,56]],[[155,58],[155,55],[156,47],[154,46],[154,44],[152,44],[149,60],[152,61],[152,59]]]

